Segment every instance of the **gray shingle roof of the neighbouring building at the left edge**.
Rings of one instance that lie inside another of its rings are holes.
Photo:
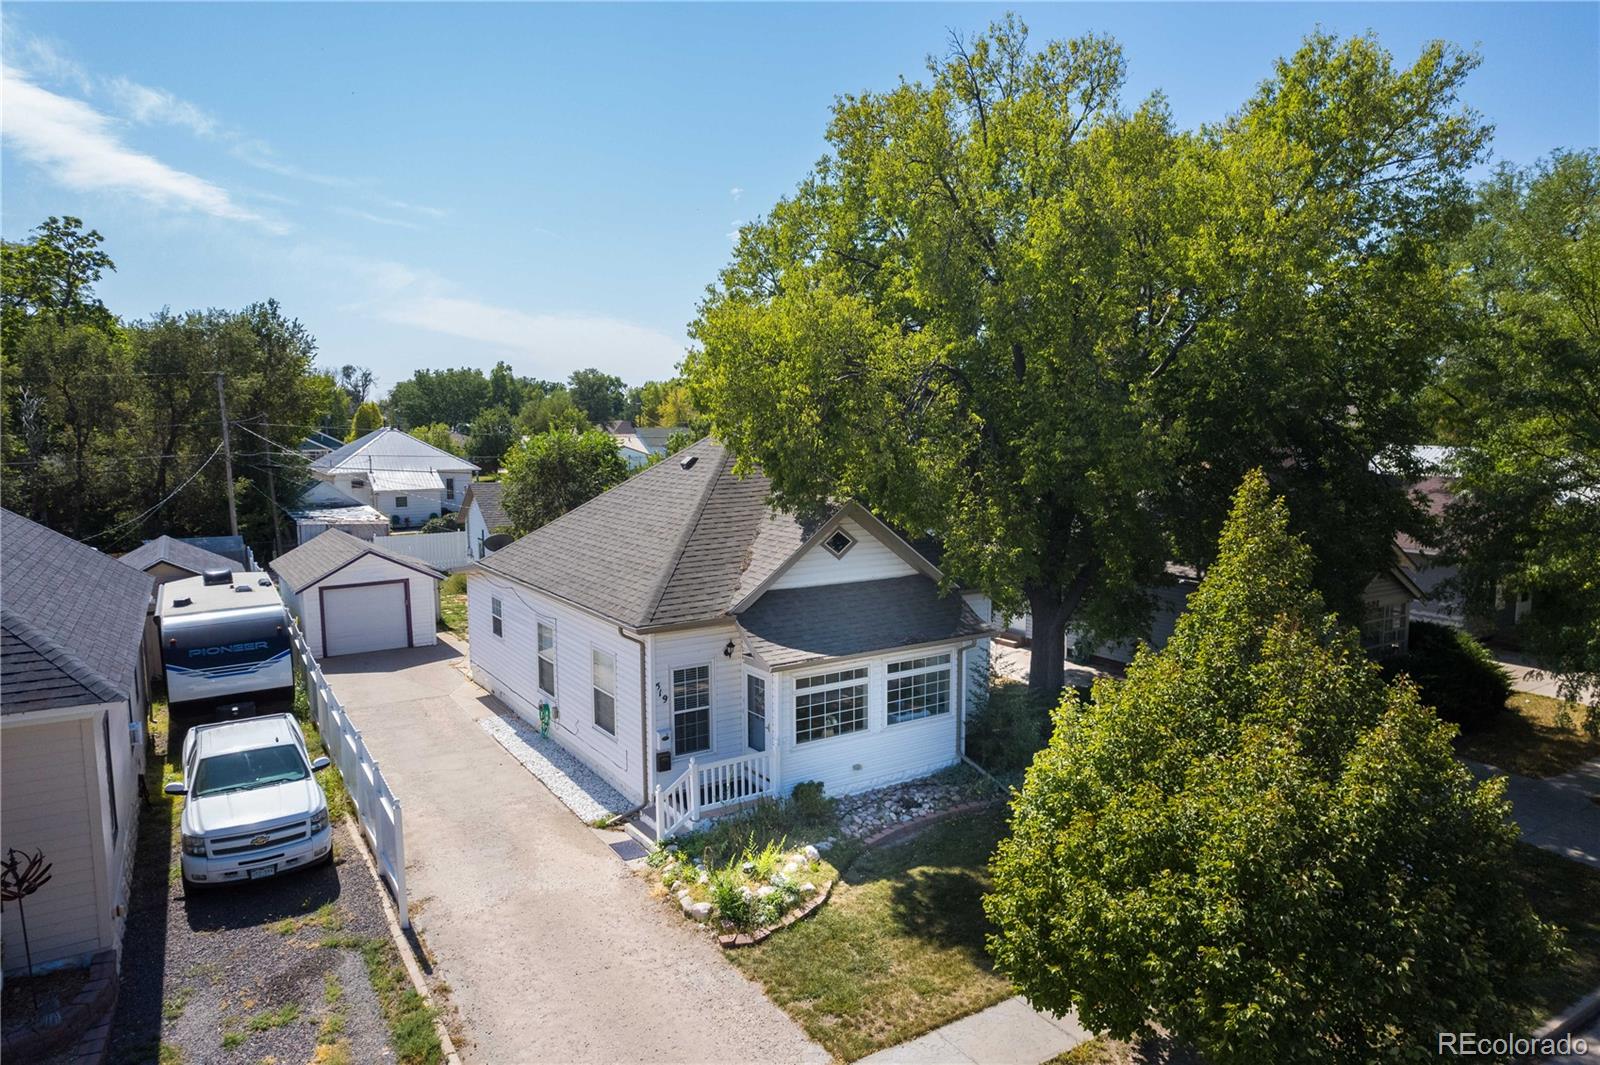
[[[0,712],[123,697],[154,587],[150,574],[0,510]]]

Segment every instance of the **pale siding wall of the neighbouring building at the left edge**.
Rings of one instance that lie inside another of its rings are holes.
[[[0,848],[42,849],[51,864],[50,883],[26,902],[34,964],[77,959],[115,942],[106,888],[104,768],[96,756],[102,744],[98,713],[51,724],[8,726],[0,744]],[[133,809],[120,806],[118,852],[134,825]],[[3,935],[3,964],[14,971],[24,966],[22,927],[14,905],[5,907]]]

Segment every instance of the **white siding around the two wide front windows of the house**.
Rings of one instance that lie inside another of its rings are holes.
[[[957,668],[958,648],[952,646],[950,668]],[[800,668],[779,673],[774,686],[779,691],[781,715],[778,721],[779,772],[787,793],[802,780],[821,780],[829,795],[850,795],[883,787],[898,780],[910,780],[936,772],[960,760],[958,718],[955,684],[950,688],[950,712],[918,721],[888,723],[888,664],[907,657],[938,654],[939,649],[899,651],[870,659],[829,662],[826,667]],[[968,651],[973,656],[973,651]],[[867,728],[861,732],[832,736],[829,739],[795,742],[795,678],[813,672],[867,667]],[[968,668],[974,668],[968,662]],[[971,673],[968,673],[971,676]],[[952,678],[954,680],[954,678]]]

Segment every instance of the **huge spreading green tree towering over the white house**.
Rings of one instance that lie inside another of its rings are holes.
[[[1355,609],[1411,515],[1371,459],[1419,435],[1435,248],[1486,136],[1472,66],[1318,34],[1186,131],[1120,102],[1114,42],[1002,22],[837,101],[829,155],[701,305],[696,401],[779,504],[858,497],[1030,609],[1040,689],[1069,624],[1136,632],[1166,561],[1208,561],[1254,465]]]

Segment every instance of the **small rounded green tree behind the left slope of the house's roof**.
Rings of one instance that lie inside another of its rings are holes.
[[[533,532],[627,478],[627,461],[600,429],[552,429],[506,453],[502,501],[517,534]]]

